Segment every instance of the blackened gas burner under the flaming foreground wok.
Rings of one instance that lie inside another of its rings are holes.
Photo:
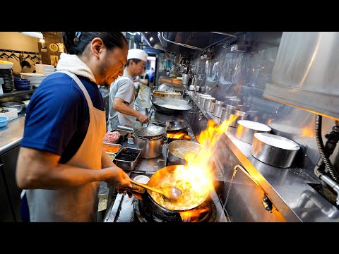
[[[198,207],[184,212],[167,212],[153,210],[147,201],[133,202],[136,222],[215,222],[215,203],[209,197]]]

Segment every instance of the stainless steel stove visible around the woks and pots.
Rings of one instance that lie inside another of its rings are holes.
[[[150,119],[152,115],[154,117],[154,111],[150,112]],[[156,120],[159,121],[159,119]],[[196,141],[191,126],[187,128],[187,131],[192,140]],[[136,145],[124,143],[122,147],[136,147]],[[127,173],[131,179],[134,179],[134,177],[138,175],[144,175],[150,178],[155,171],[167,166],[166,161],[167,145],[164,145],[162,147],[162,154],[159,157],[139,159],[136,168]],[[159,214],[150,212],[148,205],[145,205],[145,200],[138,200],[134,196],[129,198],[128,195],[118,194],[116,191],[114,191],[112,198],[109,198],[109,200],[112,201],[109,202],[103,222],[227,222],[224,209],[214,189],[210,191],[210,195],[201,205],[194,208],[206,211],[202,212],[198,217],[183,217],[179,216],[179,214],[174,214],[173,218],[164,218]]]

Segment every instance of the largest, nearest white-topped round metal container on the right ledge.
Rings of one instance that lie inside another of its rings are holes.
[[[255,133],[251,155],[274,167],[292,165],[300,146],[295,141],[270,133]]]

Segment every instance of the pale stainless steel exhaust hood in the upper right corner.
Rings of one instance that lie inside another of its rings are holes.
[[[339,32],[283,32],[263,97],[339,119]]]

